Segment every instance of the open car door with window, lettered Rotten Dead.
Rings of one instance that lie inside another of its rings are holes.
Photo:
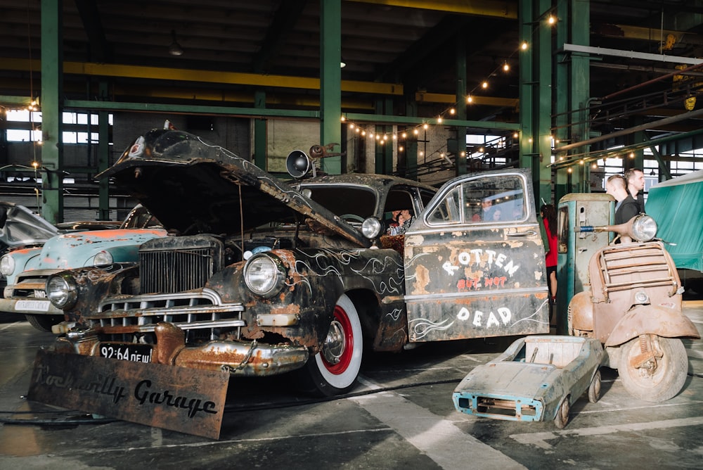
[[[548,333],[539,223],[528,170],[445,184],[406,232],[409,340]]]

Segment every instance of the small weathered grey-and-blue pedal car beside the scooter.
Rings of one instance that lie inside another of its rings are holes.
[[[600,398],[603,348],[596,338],[526,336],[495,360],[473,369],[455,388],[454,407],[478,417],[569,421],[569,408],[588,390]]]

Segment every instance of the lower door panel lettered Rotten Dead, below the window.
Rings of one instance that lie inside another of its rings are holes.
[[[496,232],[457,231],[449,243],[425,234],[406,246],[411,341],[548,333],[541,241]]]

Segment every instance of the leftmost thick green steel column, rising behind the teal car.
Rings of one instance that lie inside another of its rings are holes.
[[[63,0],[41,0],[41,215],[52,224],[63,222],[62,11]]]

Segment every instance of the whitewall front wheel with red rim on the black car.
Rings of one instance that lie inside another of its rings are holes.
[[[354,303],[342,295],[325,343],[305,364],[309,391],[320,396],[347,393],[354,387],[361,368],[363,341],[361,322]]]

